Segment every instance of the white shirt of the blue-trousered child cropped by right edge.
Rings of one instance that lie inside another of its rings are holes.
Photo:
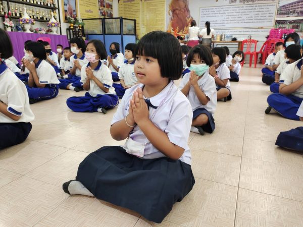
[[[297,81],[301,77],[301,65],[302,65],[302,59],[289,64],[285,70],[283,71],[282,75],[280,76],[280,84],[292,84],[293,82]],[[294,96],[297,96],[299,98],[303,98],[303,86],[299,87],[296,91],[291,93]]]

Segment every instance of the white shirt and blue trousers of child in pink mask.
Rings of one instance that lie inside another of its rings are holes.
[[[89,67],[90,63],[82,66],[81,68],[81,83],[86,82],[86,67]],[[75,112],[96,112],[98,108],[104,107],[111,109],[118,105],[119,98],[116,95],[113,85],[112,75],[109,68],[98,62],[97,67],[93,70],[93,75],[101,82],[106,88],[109,88],[109,92],[104,92],[93,80],[89,82],[89,90],[85,93],[85,96],[70,97],[66,100],[66,104],[70,109]]]

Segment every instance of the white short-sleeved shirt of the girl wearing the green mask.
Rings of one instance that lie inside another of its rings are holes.
[[[182,78],[182,81],[179,85],[180,90],[182,90],[188,82],[189,76],[190,73],[186,73]],[[212,77],[208,72],[206,72],[203,77],[198,80],[198,85],[200,90],[203,91],[210,100],[206,105],[203,105],[199,101],[193,86],[190,86],[187,98],[192,107],[192,111],[198,108],[206,108],[210,113],[212,113],[212,115],[214,115],[217,106],[217,89],[214,77]]]

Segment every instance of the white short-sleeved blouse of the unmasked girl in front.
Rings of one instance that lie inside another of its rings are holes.
[[[192,110],[187,98],[173,83],[173,81],[170,81],[159,94],[149,98],[152,105],[158,106],[157,113],[153,119],[153,124],[167,134],[170,142],[185,149],[179,160],[191,164],[190,149],[187,145],[187,141],[192,122]],[[128,115],[129,111],[129,100],[138,87],[142,88],[143,84],[137,84],[125,91],[111,125],[116,122],[124,121],[124,118]],[[170,90],[171,92],[169,92]],[[164,104],[159,107],[164,99]],[[149,119],[153,116],[155,111],[155,108],[149,107]],[[163,153],[146,139],[137,125],[130,133],[130,137],[136,142],[142,144],[146,143],[144,156],[142,157],[143,159],[165,157]]]

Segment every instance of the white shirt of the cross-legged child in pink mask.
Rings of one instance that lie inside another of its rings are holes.
[[[82,66],[82,68],[81,68],[81,83],[82,84],[85,83],[86,78],[87,78],[85,68],[89,67],[89,66],[90,66],[90,63]],[[106,88],[110,89],[109,92],[106,93],[101,88],[99,88],[99,86],[93,80],[90,80],[88,93],[92,97],[96,97],[97,94],[102,94],[102,95],[116,94],[115,88],[113,87],[113,79],[112,79],[111,71],[109,70],[109,68],[106,65],[102,64],[102,62],[99,61],[97,67],[93,70],[92,73],[101,83],[103,83],[103,85]]]

